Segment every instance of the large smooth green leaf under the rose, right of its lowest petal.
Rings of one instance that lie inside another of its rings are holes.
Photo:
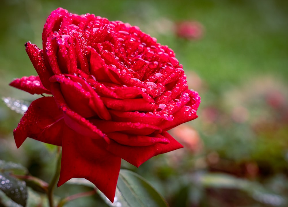
[[[120,170],[114,203],[112,204],[108,199],[105,199],[105,202],[111,207],[168,206],[164,198],[144,178],[123,169]]]

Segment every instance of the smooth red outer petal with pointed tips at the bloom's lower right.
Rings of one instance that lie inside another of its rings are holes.
[[[107,150],[116,156],[125,159],[127,162],[132,165],[139,167],[143,162],[147,161],[153,156],[170,152],[175,149],[182,148],[183,146],[177,142],[168,132],[162,132],[156,137],[167,138],[169,144],[160,144],[156,143],[155,145],[145,146],[145,147],[130,147],[126,145],[120,145],[114,141],[108,145]]]

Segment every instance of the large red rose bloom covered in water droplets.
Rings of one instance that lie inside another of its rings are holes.
[[[39,76],[11,86],[34,100],[14,130],[62,146],[58,186],[86,178],[112,202],[121,158],[139,167],[183,147],[166,131],[197,117],[197,92],[188,90],[173,50],[120,21],[58,8],[44,25],[43,50],[25,44]]]

